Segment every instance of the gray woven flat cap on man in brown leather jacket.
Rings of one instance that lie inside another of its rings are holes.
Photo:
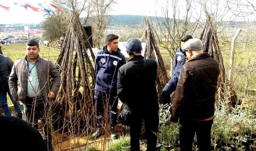
[[[182,50],[197,51],[203,49],[203,43],[200,39],[189,39],[181,47]]]

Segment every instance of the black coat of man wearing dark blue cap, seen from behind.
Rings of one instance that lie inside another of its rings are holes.
[[[147,59],[143,69],[143,60],[142,55],[133,56],[118,70],[117,94],[133,112],[158,110],[157,63]]]

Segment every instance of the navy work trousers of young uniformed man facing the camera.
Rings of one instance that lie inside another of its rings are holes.
[[[110,127],[114,127],[117,123],[117,105],[118,105],[118,97],[117,91],[109,92],[101,92],[95,90],[94,96],[94,105],[97,113],[97,126],[98,128],[102,127],[103,119],[107,119],[108,117],[104,116],[104,107],[109,108],[110,112]]]

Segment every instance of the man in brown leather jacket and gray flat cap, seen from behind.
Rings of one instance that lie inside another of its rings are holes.
[[[211,151],[211,128],[219,77],[219,62],[202,51],[199,39],[190,39],[183,46],[186,64],[182,66],[173,101],[171,120],[180,118],[181,151],[192,149],[196,133],[198,147]]]

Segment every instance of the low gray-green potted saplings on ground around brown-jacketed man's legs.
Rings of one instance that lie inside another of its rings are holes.
[[[159,151],[179,150],[179,127],[164,125],[170,113],[160,109],[158,132]],[[229,107],[226,102],[216,107],[211,131],[213,151],[256,151],[256,107],[244,108],[243,103]],[[196,136],[193,151],[198,151]]]

